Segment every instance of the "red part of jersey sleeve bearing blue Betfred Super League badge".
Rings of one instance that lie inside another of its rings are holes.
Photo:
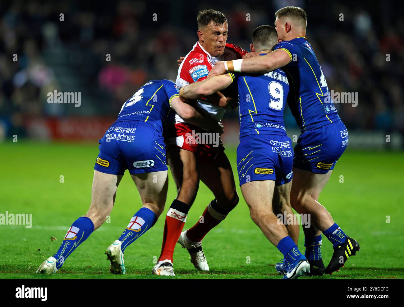
[[[212,64],[209,63],[206,55],[199,52],[191,52],[184,59],[179,76],[187,83],[194,83],[205,80],[211,69]]]

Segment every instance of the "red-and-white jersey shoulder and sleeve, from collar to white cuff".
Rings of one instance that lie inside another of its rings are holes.
[[[210,55],[197,42],[182,61],[176,83],[179,87],[183,87],[189,83],[204,80],[212,67]]]

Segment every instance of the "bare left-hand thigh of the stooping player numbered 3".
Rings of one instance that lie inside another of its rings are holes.
[[[106,174],[94,170],[91,188],[91,207],[93,210],[112,209],[114,196],[122,175]]]

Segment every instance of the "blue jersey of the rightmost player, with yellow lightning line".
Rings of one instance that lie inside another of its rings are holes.
[[[321,66],[307,39],[301,36],[286,40],[274,49],[282,49],[290,56],[289,64],[282,70],[290,83],[288,105],[301,131],[339,121]]]

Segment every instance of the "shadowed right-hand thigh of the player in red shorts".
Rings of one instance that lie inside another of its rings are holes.
[[[200,179],[212,191],[219,205],[236,205],[238,195],[233,170],[223,150],[210,163],[200,163],[199,169]]]

